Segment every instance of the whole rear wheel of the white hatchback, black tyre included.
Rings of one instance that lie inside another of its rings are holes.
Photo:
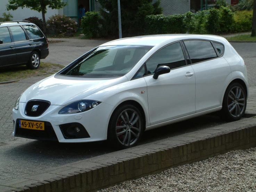
[[[237,121],[245,114],[247,95],[243,86],[232,83],[225,91],[220,117],[224,121]]]

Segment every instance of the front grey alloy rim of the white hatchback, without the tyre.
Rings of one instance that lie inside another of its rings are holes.
[[[133,145],[141,134],[141,118],[132,109],[124,110],[116,122],[116,136],[123,146]]]

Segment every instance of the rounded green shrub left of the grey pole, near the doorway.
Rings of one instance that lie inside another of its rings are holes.
[[[95,38],[100,33],[100,14],[97,11],[86,12],[86,16],[81,19],[83,34],[89,38]]]

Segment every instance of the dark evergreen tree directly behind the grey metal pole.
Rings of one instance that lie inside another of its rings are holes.
[[[118,36],[118,7],[117,0],[99,0],[103,9],[100,10],[102,16],[102,36]],[[145,18],[148,15],[162,14],[160,0],[152,4],[152,0],[121,0],[121,20],[123,37],[143,35]]]

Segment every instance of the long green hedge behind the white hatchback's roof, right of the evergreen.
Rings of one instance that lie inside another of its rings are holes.
[[[150,15],[146,17],[147,34],[189,33],[216,34],[251,30],[252,11],[233,12],[229,7],[187,12],[184,15]]]

